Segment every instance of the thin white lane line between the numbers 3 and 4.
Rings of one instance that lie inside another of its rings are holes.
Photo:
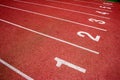
[[[54,8],[54,9],[59,9],[59,10],[65,10],[65,11],[70,11],[70,12],[75,12],[75,13],[80,13],[80,14],[85,14],[89,16],[95,16],[99,18],[104,18],[104,19],[110,19],[109,17],[104,17],[104,16],[99,16],[95,14],[90,14],[86,12],[81,12],[81,11],[75,11],[75,10],[70,10],[70,9],[65,9],[65,8],[60,8],[60,7],[55,7],[55,6],[50,6],[50,5],[43,5],[43,4],[38,4],[38,3],[33,3],[33,2],[27,2],[27,1],[21,1],[21,0],[14,0],[16,2],[22,2],[22,3],[27,3],[27,4],[32,4],[32,5],[37,5],[37,6],[43,6],[43,7],[49,7],[49,8]]]

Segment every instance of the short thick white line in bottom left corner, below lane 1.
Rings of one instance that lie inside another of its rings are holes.
[[[16,72],[17,74],[19,74],[20,76],[22,76],[26,80],[34,80],[30,76],[26,75],[22,71],[18,70],[17,68],[13,67],[12,65],[8,64],[6,61],[2,60],[1,58],[0,58],[0,63],[2,63],[3,65],[5,65],[6,67],[8,67],[9,69],[11,69],[12,71]]]

